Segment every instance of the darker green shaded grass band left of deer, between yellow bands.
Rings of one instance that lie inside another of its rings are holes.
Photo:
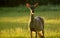
[[[0,30],[4,29],[15,29],[15,28],[22,28],[22,29],[28,29],[27,23],[0,23]]]

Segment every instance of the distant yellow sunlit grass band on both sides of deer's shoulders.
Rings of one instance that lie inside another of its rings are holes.
[[[60,18],[56,19],[45,19],[45,23],[51,23],[51,24],[59,24],[60,23]],[[17,23],[28,23],[29,22],[29,17],[1,17],[0,22],[17,22]]]

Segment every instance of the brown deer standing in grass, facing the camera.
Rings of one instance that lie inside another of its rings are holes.
[[[38,3],[35,5],[30,5],[29,3],[26,4],[26,6],[30,9],[30,31],[31,31],[31,38],[32,38],[32,32],[36,32],[36,38],[37,34],[40,36],[40,38],[44,38],[44,20],[43,18],[37,16],[34,17],[34,9],[37,7]]]

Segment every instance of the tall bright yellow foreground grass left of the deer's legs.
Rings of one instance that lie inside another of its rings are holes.
[[[0,37],[29,37],[29,32],[21,28],[1,30]]]

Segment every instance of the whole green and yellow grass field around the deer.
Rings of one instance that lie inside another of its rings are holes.
[[[60,38],[60,6],[38,6],[35,16],[44,18],[45,38]],[[0,7],[0,38],[30,38],[29,18],[25,6]]]

